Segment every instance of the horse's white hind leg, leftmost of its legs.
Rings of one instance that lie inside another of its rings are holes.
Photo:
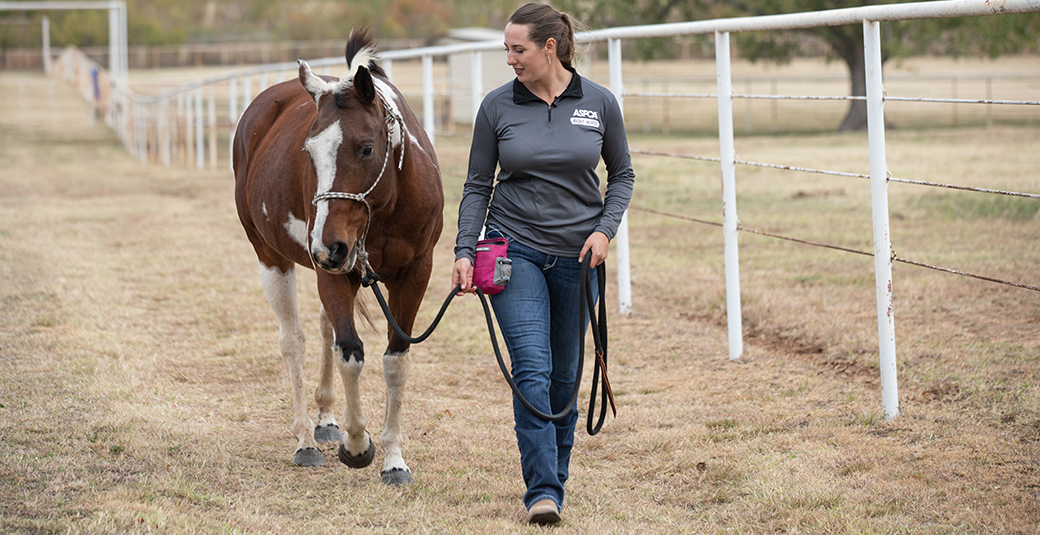
[[[307,415],[303,378],[306,337],[296,305],[296,272],[291,265],[283,271],[260,262],[260,280],[263,282],[267,302],[278,317],[278,341],[282,348],[282,360],[289,373],[289,386],[292,388],[292,434],[298,440],[292,463],[297,466],[324,465],[321,452],[314,441],[314,422]]]

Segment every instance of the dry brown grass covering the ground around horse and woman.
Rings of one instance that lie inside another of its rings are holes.
[[[48,102],[57,105],[49,116]],[[983,176],[980,185],[1036,192],[1038,134],[896,131],[889,165],[907,178]],[[632,145],[710,154],[716,142]],[[422,325],[449,289],[468,144],[439,138],[437,148],[447,230]],[[866,158],[859,134],[746,138],[737,150],[849,171]],[[742,237],[746,355],[729,362],[719,232],[633,212],[634,313],[609,319],[619,418],[596,437],[579,433],[564,524],[528,528],[508,388],[475,300],[457,302],[413,348],[413,487],[385,487],[376,467],[347,469],[332,451],[326,468],[293,468],[277,325],[230,173],[141,167],[73,92],[7,73],[0,169],[2,532],[1040,529],[1033,292],[898,265],[902,413],[885,422],[869,258]],[[712,165],[638,157],[636,169],[634,204],[720,213]],[[869,249],[865,183],[738,177],[745,225]],[[1028,206],[894,185],[891,199],[901,256],[1040,280]],[[314,277],[300,279],[313,354]],[[381,353],[381,332],[362,336]],[[362,384],[378,432],[378,358]]]

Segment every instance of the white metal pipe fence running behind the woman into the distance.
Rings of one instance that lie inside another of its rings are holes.
[[[624,106],[624,77],[622,75],[621,44],[623,40],[661,37],[688,34],[713,34],[716,43],[716,85],[717,93],[706,95],[718,101],[720,154],[718,158],[703,158],[718,161],[723,177],[723,234],[726,268],[727,325],[729,333],[729,356],[737,359],[744,352],[743,326],[740,316],[740,287],[737,233],[739,227],[736,211],[735,175],[737,164],[760,164],[736,159],[733,136],[733,102],[737,98],[765,98],[761,95],[736,95],[730,72],[729,34],[731,32],[759,30],[794,30],[821,26],[862,24],[864,30],[864,58],[866,75],[866,96],[846,97],[866,101],[868,112],[869,173],[862,176],[870,180],[870,199],[874,225],[875,283],[878,315],[878,342],[881,360],[882,410],[886,417],[899,413],[899,390],[895,366],[895,334],[892,306],[891,265],[893,261],[888,226],[888,183],[893,180],[886,163],[885,150],[885,100],[921,100],[913,98],[894,99],[886,97],[882,84],[882,52],[880,23],[896,20],[937,19],[953,17],[999,16],[1016,12],[1040,11],[1040,0],[947,0],[909,4],[890,4],[857,7],[829,11],[779,15],[738,19],[697,21],[651,26],[609,28],[584,32],[579,40],[606,42],[609,63],[609,88]],[[418,59],[421,62],[420,114],[423,125],[433,138],[437,133],[437,99],[444,93],[444,73],[435,74],[435,58],[452,54],[469,54],[471,57],[472,105],[475,113],[486,90],[480,80],[482,54],[497,50],[499,42],[428,47],[415,50],[399,50],[383,54],[383,65],[393,78],[393,65],[398,60]],[[310,61],[314,68],[339,67],[342,57],[322,58]],[[170,165],[181,161],[199,169],[207,165],[216,168],[220,163],[216,154],[218,146],[233,137],[235,123],[241,111],[256,92],[266,87],[268,82],[281,81],[286,74],[295,76],[296,63],[274,63],[242,70],[199,80],[179,87],[164,91],[154,96],[134,95],[128,88],[115,87],[106,92],[105,83],[98,76],[83,73],[99,71],[85,57],[67,50],[61,57],[61,66],[56,73],[74,77],[80,82],[93,84],[84,96],[93,98],[100,109],[105,111],[109,124],[115,128],[127,148],[142,162],[157,161]],[[440,76],[440,80],[438,80]],[[102,77],[103,78],[103,77]],[[396,80],[395,80],[396,81]],[[118,80],[116,80],[118,82]],[[256,85],[254,83],[256,82]],[[100,83],[100,87],[99,87]],[[438,91],[438,84],[441,85]],[[399,85],[399,83],[398,83]],[[254,91],[256,88],[256,92]],[[222,95],[223,93],[223,95]],[[227,109],[218,110],[217,101],[227,104]],[[1009,105],[1037,105],[1031,101],[990,101],[961,99],[930,99],[953,104],[985,103]],[[826,171],[821,171],[828,173]],[[938,184],[941,185],[941,184]],[[1040,199],[1032,194],[1013,194]],[[615,238],[618,257],[618,297],[622,313],[631,309],[631,284],[628,255],[628,218],[622,221]],[[948,270],[947,270],[948,271]],[[1040,289],[1040,288],[1032,288]]]

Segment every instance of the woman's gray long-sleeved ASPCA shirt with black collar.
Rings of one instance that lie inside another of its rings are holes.
[[[488,94],[476,114],[456,259],[473,258],[485,223],[536,251],[577,258],[593,232],[614,238],[634,180],[613,93],[574,73],[547,105],[513,80]]]

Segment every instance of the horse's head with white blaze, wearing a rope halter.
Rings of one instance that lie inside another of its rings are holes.
[[[352,53],[353,52],[353,53]],[[394,93],[375,74],[371,37],[350,36],[348,72],[326,79],[300,61],[300,81],[314,98],[317,114],[304,145],[316,177],[310,252],[315,265],[330,273],[365,269],[365,236],[372,213],[386,205],[399,161],[404,121]],[[404,153],[401,152],[401,158]]]

